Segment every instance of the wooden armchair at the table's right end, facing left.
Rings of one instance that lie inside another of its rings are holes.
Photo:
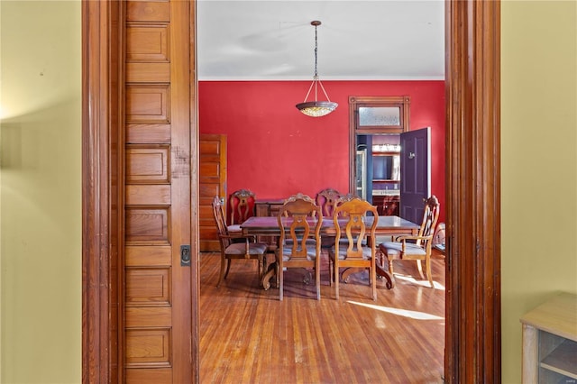
[[[393,276],[393,260],[416,260],[418,273],[421,279],[425,279],[421,266],[421,261],[425,261],[426,277],[429,280],[431,288],[435,287],[431,275],[431,244],[433,243],[435,225],[439,219],[439,211],[439,200],[435,195],[427,198],[425,201],[423,221],[421,222],[421,227],[417,235],[397,236],[394,242],[380,243],[380,265],[381,268],[384,269],[385,259],[389,262],[389,273],[391,277]],[[387,283],[387,288],[391,289],[394,288],[394,286],[395,279],[391,279],[390,284]]]

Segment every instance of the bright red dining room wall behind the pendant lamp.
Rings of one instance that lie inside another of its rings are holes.
[[[308,117],[295,107],[310,81],[201,81],[200,133],[226,134],[227,195],[249,188],[257,198],[315,197],[349,189],[349,96],[410,96],[410,129],[431,127],[432,193],[444,221],[444,81],[323,81],[338,108]],[[309,96],[310,99],[310,96]],[[325,97],[319,97],[325,99]]]

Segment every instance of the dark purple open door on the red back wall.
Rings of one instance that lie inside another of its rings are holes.
[[[401,133],[400,148],[400,216],[420,224],[431,193],[430,129]]]

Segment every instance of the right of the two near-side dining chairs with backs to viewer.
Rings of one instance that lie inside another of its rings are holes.
[[[365,224],[364,218],[368,214],[374,216],[371,226]],[[328,255],[331,285],[334,284],[334,296],[338,300],[340,270],[360,268],[369,270],[371,296],[373,300],[376,300],[375,242],[368,242],[367,238],[375,238],[375,230],[379,221],[377,207],[360,197],[341,197],[334,207],[333,221],[336,237],[334,246],[329,249]]]

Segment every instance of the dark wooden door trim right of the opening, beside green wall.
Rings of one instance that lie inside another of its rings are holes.
[[[498,383],[500,1],[451,1],[445,8],[445,380]]]

